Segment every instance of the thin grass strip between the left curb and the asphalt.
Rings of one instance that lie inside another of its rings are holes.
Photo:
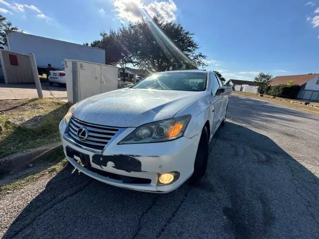
[[[35,173],[29,175],[25,178],[17,179],[12,181],[9,184],[5,184],[0,186],[0,195],[6,194],[8,191],[14,191],[19,188],[23,188],[30,183],[34,182],[35,180],[39,179],[41,176],[48,174],[48,173],[58,173],[60,172],[68,163],[67,159],[64,156],[62,148],[56,148],[51,152],[50,155],[47,157],[47,161],[49,163],[53,163],[53,165],[49,166],[48,168],[44,169],[39,173]]]

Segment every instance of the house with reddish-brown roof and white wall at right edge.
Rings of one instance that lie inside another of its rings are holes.
[[[289,81],[293,81],[296,85],[300,85],[301,89],[319,91],[319,74],[276,76],[272,79],[270,85],[286,85]]]

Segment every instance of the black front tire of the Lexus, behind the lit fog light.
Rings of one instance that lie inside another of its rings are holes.
[[[194,163],[194,172],[188,179],[188,184],[193,185],[197,183],[205,174],[207,168],[207,161],[208,161],[208,152],[209,152],[209,145],[208,145],[208,132],[206,126],[202,129],[195,163]]]

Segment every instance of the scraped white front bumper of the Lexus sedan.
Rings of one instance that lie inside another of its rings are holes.
[[[62,119],[59,131],[67,159],[81,172],[101,182],[138,191],[167,193],[178,188],[193,173],[199,134],[192,138],[181,137],[160,143],[118,144],[135,129],[126,128],[112,138],[104,151],[97,152],[72,143],[67,135],[64,135],[65,128],[66,124]],[[91,168],[85,168],[74,158],[67,156],[66,146],[89,155]],[[111,175],[149,179],[149,183],[126,183],[116,177],[99,173],[101,171]],[[170,185],[158,186],[158,174],[164,172],[178,172],[179,178]]]

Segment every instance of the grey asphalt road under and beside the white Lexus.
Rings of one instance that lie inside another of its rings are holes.
[[[135,192],[69,165],[3,238],[319,238],[319,116],[239,96],[227,116],[196,187]]]

